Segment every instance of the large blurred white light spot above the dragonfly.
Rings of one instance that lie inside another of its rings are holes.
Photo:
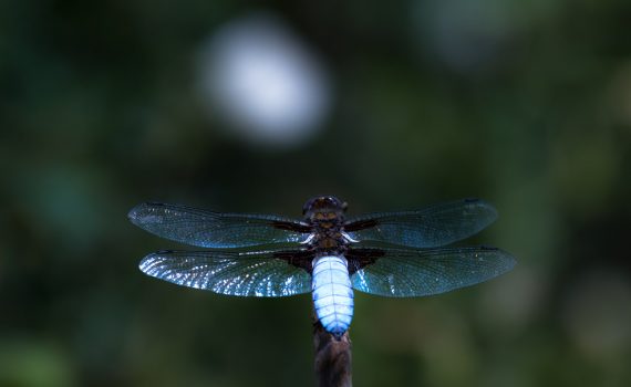
[[[297,145],[311,137],[330,105],[317,57],[269,14],[220,28],[203,48],[199,86],[211,115],[256,144]]]

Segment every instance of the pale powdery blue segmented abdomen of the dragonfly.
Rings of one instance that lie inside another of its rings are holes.
[[[338,255],[316,258],[311,289],[320,323],[335,337],[341,337],[353,318],[353,290],[346,260]]]

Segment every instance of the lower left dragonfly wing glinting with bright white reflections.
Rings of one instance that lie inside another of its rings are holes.
[[[272,251],[158,251],[141,270],[177,285],[215,293],[280,297],[311,291],[311,275]]]

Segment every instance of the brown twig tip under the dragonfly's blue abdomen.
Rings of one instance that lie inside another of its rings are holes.
[[[313,347],[318,387],[351,387],[351,339],[344,332],[340,339],[327,332],[313,315]]]

